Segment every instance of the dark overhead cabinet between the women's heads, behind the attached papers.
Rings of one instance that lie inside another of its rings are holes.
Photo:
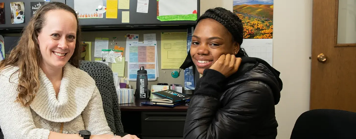
[[[79,1],[79,0],[77,0]],[[85,0],[80,0],[80,1],[85,1]],[[90,0],[90,1],[101,1],[101,0]],[[102,0],[102,4],[105,5],[106,7],[108,7],[107,5],[107,1],[108,0]],[[119,0],[119,4],[120,4]],[[125,0],[122,0],[125,1]],[[158,0],[148,0],[148,12],[147,13],[143,13],[143,12],[137,12],[137,1],[138,0],[126,0],[127,2],[129,2],[129,7],[127,7],[127,9],[116,9],[117,10],[117,16],[115,16],[116,18],[108,18],[106,15],[106,12],[103,14],[103,17],[101,18],[85,18],[85,19],[79,19],[79,23],[80,25],[82,25],[82,27],[87,28],[87,27],[101,27],[101,26],[161,26],[161,25],[195,25],[196,24],[196,20],[192,21],[192,20],[183,20],[183,21],[160,21],[157,19],[157,4],[158,4]],[[189,1],[189,0],[185,0],[185,1]],[[197,5],[196,9],[197,11],[192,10],[192,13],[195,13],[197,15],[197,18],[199,18],[200,15],[200,0],[196,0],[194,2],[194,5]],[[161,1],[162,3],[162,1]],[[183,4],[187,4],[188,3],[183,3],[183,2],[178,2]],[[75,8],[75,0],[66,0],[66,4],[70,7],[72,7],[74,10],[76,10]],[[89,2],[88,2],[89,4]],[[93,5],[90,5],[93,6]],[[98,5],[95,5],[95,7],[97,7]],[[164,5],[163,5],[164,6]],[[172,7],[174,7],[174,5],[171,5]],[[85,7],[85,5],[84,5]],[[83,7],[83,8],[84,8]],[[159,7],[159,6],[158,6]],[[162,4],[161,4],[162,7]],[[184,6],[183,6],[184,7]],[[185,6],[187,7],[187,6]],[[82,7],[80,7],[82,8]],[[122,12],[126,12],[129,15],[129,21],[128,22],[123,22],[122,20]],[[81,13],[79,12],[79,15]],[[162,12],[161,12],[162,14]]]

